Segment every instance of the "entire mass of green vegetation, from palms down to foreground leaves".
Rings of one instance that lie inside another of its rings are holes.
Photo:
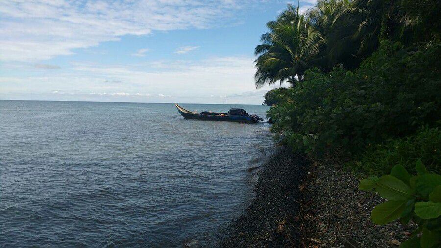
[[[265,97],[276,103],[272,131],[296,152],[374,175],[361,187],[389,201],[372,220],[419,224],[421,238],[403,246],[441,236],[440,10],[432,0],[319,0],[305,14],[289,5],[255,50],[256,87],[292,86]]]

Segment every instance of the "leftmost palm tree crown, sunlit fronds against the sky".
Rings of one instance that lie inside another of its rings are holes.
[[[267,23],[270,32],[261,37],[262,44],[255,49],[257,72],[256,88],[276,82],[295,86],[303,81],[309,61],[319,51],[320,33],[314,30],[298,6],[288,4],[276,21]]]

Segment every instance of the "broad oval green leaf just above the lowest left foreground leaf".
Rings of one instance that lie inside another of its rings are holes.
[[[375,190],[381,197],[392,201],[407,200],[413,195],[409,186],[390,175],[382,176],[378,180]]]

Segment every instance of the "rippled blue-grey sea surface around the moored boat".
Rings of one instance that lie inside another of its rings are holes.
[[[269,128],[173,104],[0,101],[0,247],[211,244],[252,198]]]

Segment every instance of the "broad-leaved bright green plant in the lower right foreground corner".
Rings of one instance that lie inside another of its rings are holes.
[[[386,224],[400,219],[410,220],[418,229],[401,247],[439,247],[441,245],[441,175],[429,173],[421,160],[417,161],[416,176],[411,176],[401,165],[395,165],[390,175],[373,176],[360,181],[360,189],[375,191],[388,201],[377,205],[371,217],[375,224]],[[422,232],[420,237],[418,233]]]

